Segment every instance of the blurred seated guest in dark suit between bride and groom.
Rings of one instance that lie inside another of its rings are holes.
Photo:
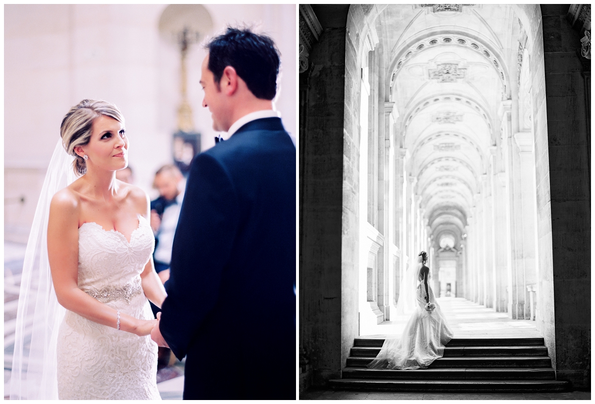
[[[151,201],[151,228],[156,239],[153,260],[162,283],[170,277],[171,246],[184,199],[183,179],[180,169],[168,164],[155,173],[153,182],[159,191],[159,197]]]

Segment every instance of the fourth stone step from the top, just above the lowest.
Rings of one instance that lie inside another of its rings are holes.
[[[390,370],[345,368],[343,378],[392,380],[555,380],[552,368],[428,368]]]

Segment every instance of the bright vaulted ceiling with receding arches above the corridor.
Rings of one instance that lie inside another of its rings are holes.
[[[506,5],[387,5],[375,21],[390,50],[386,86],[400,147],[437,242],[460,241],[510,97],[514,13]]]

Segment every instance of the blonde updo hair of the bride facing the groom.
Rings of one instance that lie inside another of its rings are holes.
[[[74,152],[74,147],[89,143],[93,121],[105,115],[124,124],[124,116],[117,106],[111,102],[101,100],[82,100],[68,111],[60,125],[62,145],[68,154],[74,156],[73,168],[77,175],[87,172],[87,165],[83,157]]]

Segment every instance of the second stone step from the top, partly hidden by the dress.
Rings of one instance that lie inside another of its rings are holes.
[[[378,346],[354,346],[351,356],[376,356]],[[452,356],[547,356],[545,346],[446,346],[444,357]]]

